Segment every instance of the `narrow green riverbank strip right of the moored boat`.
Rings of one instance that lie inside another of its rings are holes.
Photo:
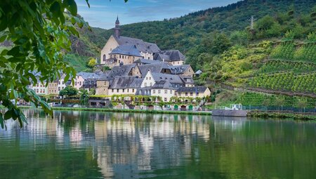
[[[316,121],[316,115],[310,114],[294,114],[294,113],[282,113],[282,112],[257,112],[251,111],[247,114],[248,117],[259,117],[263,119],[276,118],[276,119],[294,119],[302,121]]]

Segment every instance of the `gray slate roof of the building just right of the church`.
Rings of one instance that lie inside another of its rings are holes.
[[[154,60],[165,60],[166,62],[185,60],[185,55],[180,53],[178,50],[160,51],[154,55]]]

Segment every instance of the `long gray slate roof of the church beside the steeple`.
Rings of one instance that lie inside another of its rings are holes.
[[[160,51],[160,48],[157,46],[157,44],[153,44],[153,43],[149,43],[149,42],[145,42],[141,39],[134,39],[131,37],[115,37],[113,36],[114,39],[117,40],[117,42],[119,43],[119,45],[135,45],[136,48],[138,49],[138,51],[142,51],[142,52],[148,52],[148,53],[157,53]]]

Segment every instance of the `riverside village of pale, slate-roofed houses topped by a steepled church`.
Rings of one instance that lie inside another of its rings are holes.
[[[204,99],[211,95],[209,88],[195,86],[193,77],[202,71],[194,72],[190,65],[185,65],[185,56],[180,51],[162,51],[157,44],[121,36],[119,18],[114,34],[100,53],[98,65],[110,70],[78,72],[74,84],[71,80],[64,81],[65,74],[60,74],[60,78],[48,85],[39,81],[29,88],[37,95],[58,97],[66,86],[73,86],[77,90],[94,91],[89,105],[102,107],[108,106],[111,100],[112,103],[124,101],[114,106],[119,109],[154,110],[158,106],[141,103],[164,102],[169,104],[164,105],[169,110],[200,110],[206,102]],[[178,107],[178,102],[190,104]]]

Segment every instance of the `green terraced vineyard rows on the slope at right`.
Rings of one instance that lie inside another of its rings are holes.
[[[251,88],[316,94],[316,43],[295,45],[285,41],[275,47],[270,60],[246,82]]]

